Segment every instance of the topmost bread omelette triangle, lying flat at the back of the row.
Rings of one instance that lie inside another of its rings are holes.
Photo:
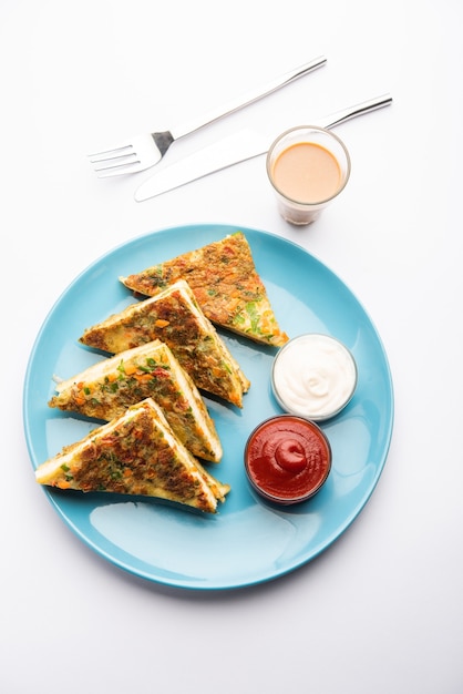
[[[181,277],[215,325],[265,345],[280,347],[288,341],[243,232],[120,279],[134,292],[154,296]]]

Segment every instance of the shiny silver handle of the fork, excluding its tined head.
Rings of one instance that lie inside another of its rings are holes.
[[[229,102],[228,104],[224,105],[222,109],[217,109],[216,111],[208,113],[207,115],[203,116],[200,120],[191,121],[189,123],[186,123],[184,125],[177,125],[176,127],[171,129],[169,131],[171,135],[174,140],[179,140],[179,137],[189,135],[189,133],[193,133],[196,130],[204,127],[205,125],[209,125],[209,123],[214,123],[214,121],[218,121],[219,119],[225,118],[226,115],[229,115],[230,113],[234,113],[235,111],[239,111],[240,109],[244,109],[245,106],[250,105],[255,101],[258,101],[259,99],[263,99],[264,96],[267,96],[268,94],[271,94],[272,92],[276,92],[281,86],[286,86],[290,82],[298,80],[299,78],[303,76],[305,74],[308,74],[309,72],[311,72],[312,70],[316,70],[317,68],[321,68],[321,65],[325,65],[326,62],[327,62],[327,59],[323,55],[320,55],[319,58],[315,58],[310,62],[303,65],[300,65],[299,68],[296,68],[291,70],[290,72],[286,72],[279,78],[276,78],[275,80],[269,82],[266,86],[260,88],[246,95],[241,95],[241,98]]]

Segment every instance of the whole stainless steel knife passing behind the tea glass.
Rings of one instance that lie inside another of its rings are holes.
[[[382,94],[317,119],[310,124],[331,129],[364,113],[388,106],[391,103],[392,96]],[[156,197],[235,164],[261,156],[267,153],[272,139],[251,129],[228,135],[184,160],[166,166],[163,171],[154,173],[136,188],[134,193],[135,201],[143,202]]]

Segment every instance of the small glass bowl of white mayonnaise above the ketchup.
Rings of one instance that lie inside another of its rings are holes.
[[[328,335],[295,337],[274,361],[274,394],[291,415],[313,420],[333,417],[349,402],[356,386],[352,355]]]

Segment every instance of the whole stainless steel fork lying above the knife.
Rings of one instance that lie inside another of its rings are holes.
[[[248,106],[255,101],[258,101],[259,99],[277,91],[281,86],[298,80],[312,70],[321,68],[321,65],[326,62],[327,59],[323,55],[316,58],[310,62],[272,80],[264,89],[260,88],[247,95],[241,96],[240,99],[236,99],[222,109],[205,115],[200,120],[186,123],[185,125],[177,125],[176,127],[164,132],[138,135],[125,143],[121,143],[103,152],[90,154],[90,162],[93,164],[93,167],[100,178],[145,171],[146,169],[157,164],[175,141],[181,137],[185,137],[200,127],[204,127],[214,121],[218,121],[235,111],[239,111],[240,109]]]

